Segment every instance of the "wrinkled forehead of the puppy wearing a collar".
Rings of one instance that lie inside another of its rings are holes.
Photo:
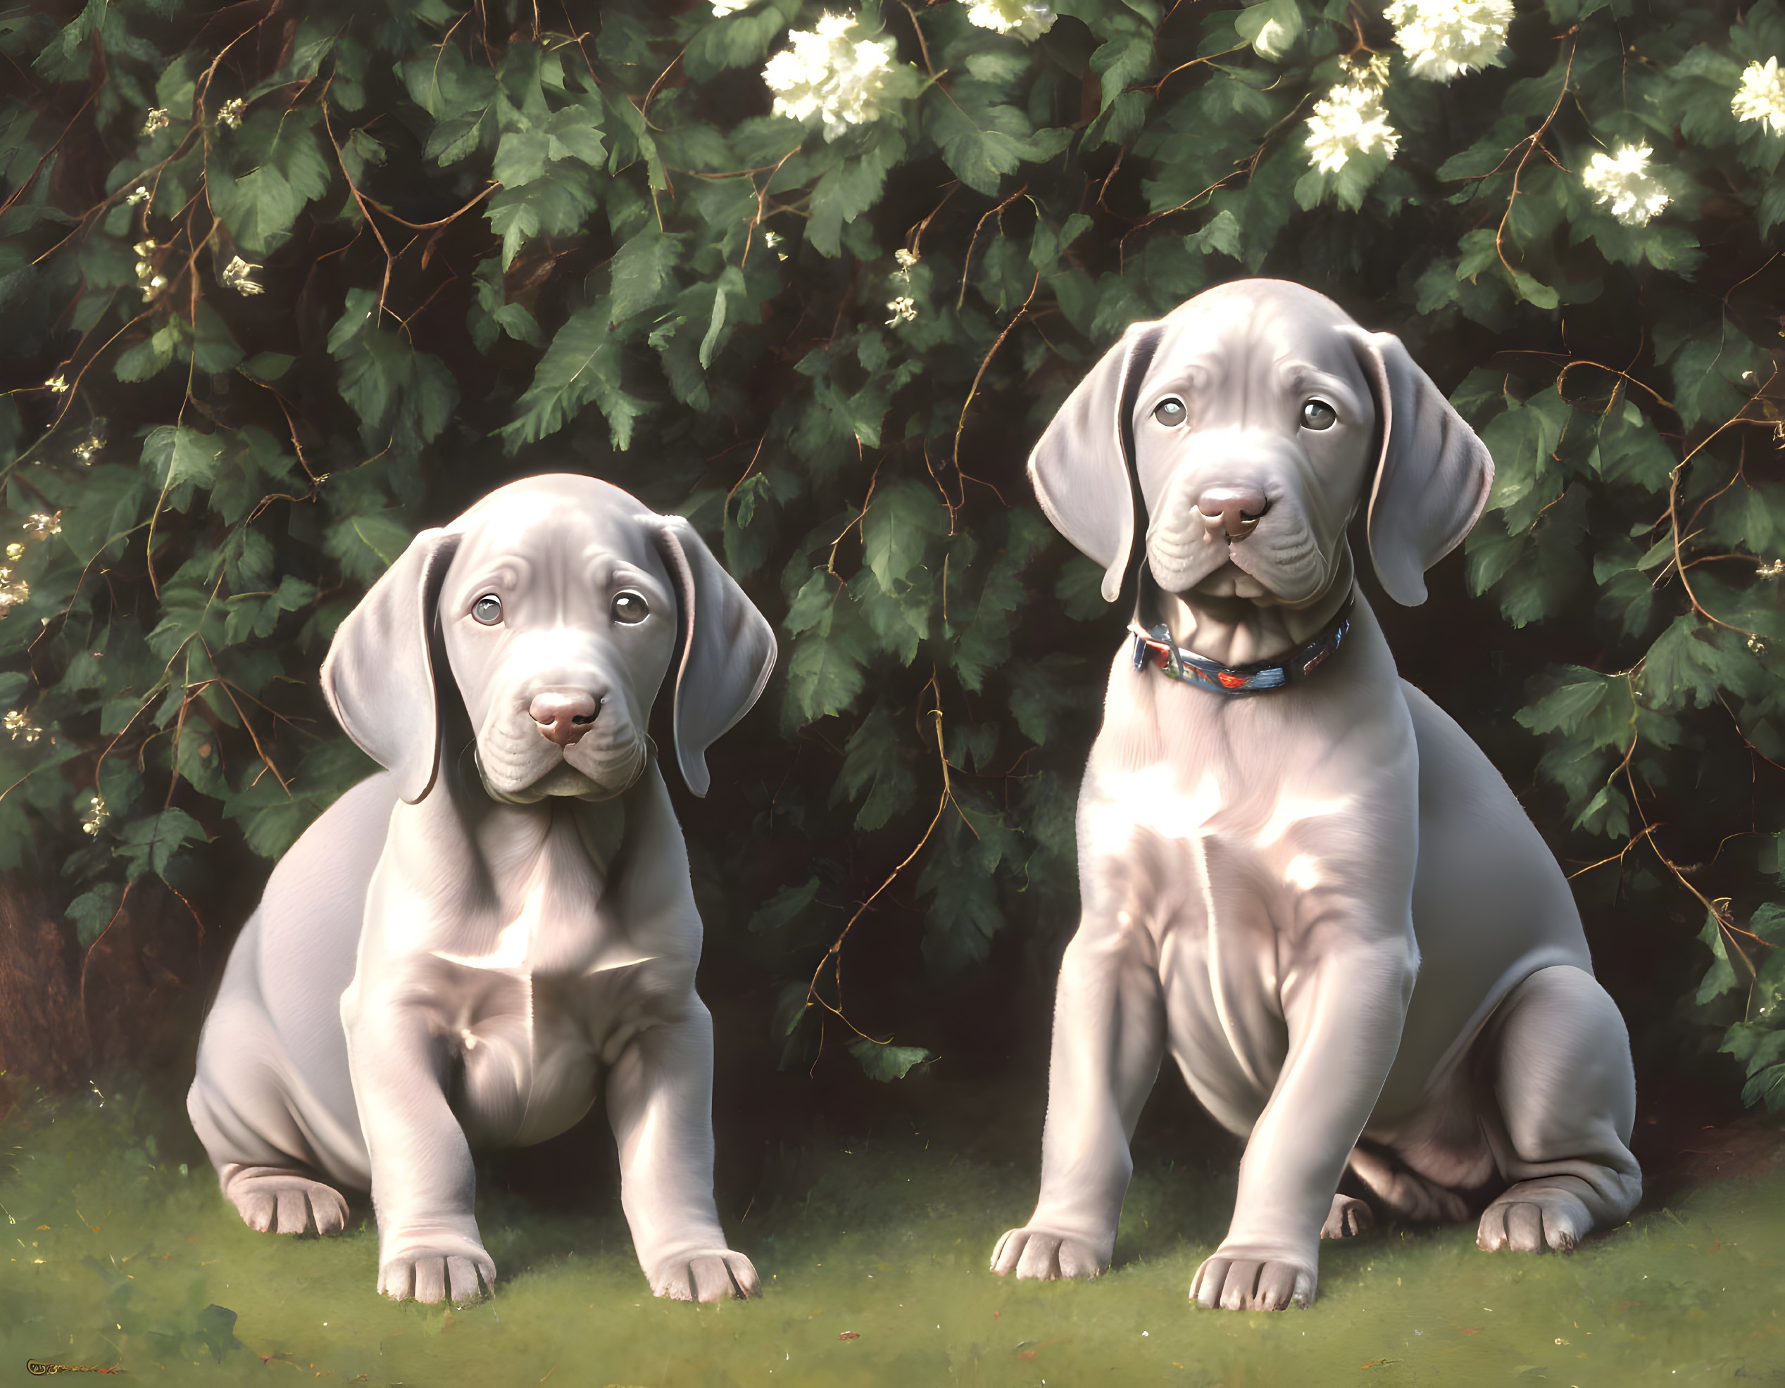
[[[1337,376],[1367,396],[1351,339],[1339,332],[1349,314],[1299,285],[1258,284],[1271,287],[1216,289],[1167,314],[1144,389],[1296,391],[1314,387],[1316,376]]]

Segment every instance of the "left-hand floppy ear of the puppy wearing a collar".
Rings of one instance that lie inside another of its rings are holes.
[[[1160,325],[1133,323],[1060,405],[1028,455],[1028,480],[1053,528],[1103,566],[1114,603],[1133,553],[1133,405]]]

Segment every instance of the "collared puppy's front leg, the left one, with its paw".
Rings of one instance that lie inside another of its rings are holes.
[[[1096,1277],[1116,1252],[1128,1140],[1164,1054],[1158,972],[1126,922],[1087,921],[1060,960],[1041,1135],[1041,1201],[992,1249],[1000,1277]]]

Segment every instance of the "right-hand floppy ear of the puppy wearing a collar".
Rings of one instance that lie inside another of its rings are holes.
[[[1351,323],[1358,366],[1376,396],[1382,457],[1369,492],[1369,558],[1401,607],[1426,599],[1424,573],[1462,544],[1487,505],[1494,457],[1392,332]]]

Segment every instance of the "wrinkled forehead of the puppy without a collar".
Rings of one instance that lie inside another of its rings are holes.
[[[468,510],[448,582],[478,582],[498,567],[548,569],[600,583],[616,564],[668,582],[641,517],[643,503],[618,487],[607,494],[502,489]]]

